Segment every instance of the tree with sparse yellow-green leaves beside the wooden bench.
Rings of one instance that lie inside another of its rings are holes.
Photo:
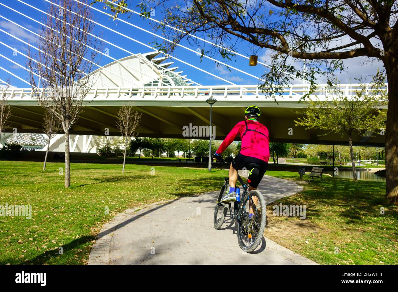
[[[328,100],[306,101],[308,110],[306,116],[295,120],[297,126],[306,126],[306,129],[324,130],[324,135],[334,132],[348,136],[352,171],[354,181],[357,181],[355,170],[355,155],[353,151],[353,135],[371,136],[373,131],[384,128],[385,112],[379,107],[385,104],[385,93],[377,83],[371,94],[366,94],[367,86],[362,85],[356,97],[346,97],[338,89]]]

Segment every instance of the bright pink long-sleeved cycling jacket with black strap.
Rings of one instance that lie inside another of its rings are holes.
[[[234,128],[232,128],[229,134],[225,137],[224,141],[222,141],[219,149],[217,150],[217,154],[224,152],[224,150],[232,143],[232,141],[235,140],[236,136],[239,135],[242,141],[242,148],[240,150],[242,155],[256,157],[268,163],[269,132],[267,127],[254,120],[248,120],[246,122],[249,129],[259,131],[265,134],[267,137],[255,131],[247,131],[243,136],[246,130],[246,124],[245,121],[239,122],[234,126]]]

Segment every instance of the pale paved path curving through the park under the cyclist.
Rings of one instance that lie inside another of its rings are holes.
[[[264,176],[267,204],[302,191],[294,182]],[[213,227],[218,192],[126,210],[105,224],[89,264],[315,264],[264,238],[254,253],[238,246],[234,220]],[[266,233],[265,229],[265,233]]]

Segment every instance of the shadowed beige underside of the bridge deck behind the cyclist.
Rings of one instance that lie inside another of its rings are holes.
[[[183,126],[209,125],[210,106],[207,97],[196,100],[162,99],[147,101],[136,99],[135,109],[142,113],[139,126],[141,137],[189,138],[183,136]],[[324,135],[323,131],[305,130],[295,126],[294,120],[302,116],[306,106],[297,101],[283,99],[278,104],[272,100],[256,99],[247,101],[239,99],[226,100],[217,98],[213,105],[213,125],[216,126],[216,139],[222,140],[231,128],[244,117],[248,105],[256,104],[261,109],[260,122],[269,129],[271,142],[335,144],[346,145],[348,138],[339,134]],[[125,101],[93,101],[84,107],[79,120],[72,126],[71,134],[104,135],[105,128],[109,135],[120,135],[116,126],[116,114]],[[42,133],[44,111],[36,102],[11,102],[12,116],[10,128],[17,128],[20,133]],[[297,114],[300,112],[301,114]],[[374,133],[375,137],[353,137],[355,145],[384,146],[384,135]],[[191,139],[208,139],[208,137],[190,137]]]

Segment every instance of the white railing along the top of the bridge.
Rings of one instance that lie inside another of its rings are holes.
[[[361,84],[340,84],[337,88],[345,96],[355,96],[358,91],[362,90]],[[316,86],[316,90],[310,98],[318,97],[319,99],[326,99],[332,97],[333,93],[327,91],[328,85],[320,84]],[[386,93],[387,85],[385,85]],[[283,86],[284,93],[282,98],[289,98],[291,100],[300,100],[302,97],[309,93],[310,85],[308,84],[291,84]],[[367,84],[365,93],[371,93],[371,85]],[[43,91],[42,91],[43,92]],[[33,91],[31,88],[12,88],[9,89],[7,94],[9,101],[16,100],[32,100]],[[156,99],[156,98],[208,98],[210,96],[218,97],[217,99],[227,99],[228,97],[238,97],[245,99],[258,99],[269,97],[267,92],[262,92],[258,85],[214,85],[214,86],[159,86],[159,87],[103,87],[93,88],[90,90],[85,100],[113,100],[113,99]],[[275,96],[280,99],[280,95]]]

